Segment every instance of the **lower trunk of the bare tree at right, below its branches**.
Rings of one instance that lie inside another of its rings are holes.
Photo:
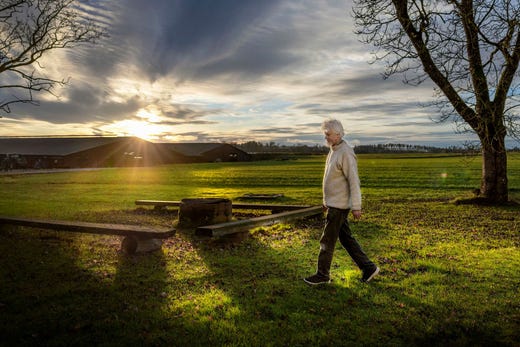
[[[497,137],[495,137],[491,143],[481,141],[482,179],[480,183],[480,194],[491,202],[505,203],[509,200],[507,153],[504,137]]]

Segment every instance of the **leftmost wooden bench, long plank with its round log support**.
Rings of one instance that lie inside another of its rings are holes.
[[[0,216],[0,225],[71,231],[77,233],[124,236],[121,249],[127,254],[149,252],[161,247],[161,239],[175,234],[175,229],[152,229],[136,225],[71,222]]]

